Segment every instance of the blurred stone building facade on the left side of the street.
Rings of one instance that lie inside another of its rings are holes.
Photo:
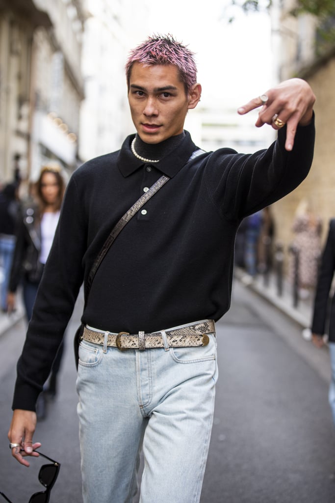
[[[84,21],[80,0],[0,0],[0,182],[14,159],[27,181],[77,166]]]

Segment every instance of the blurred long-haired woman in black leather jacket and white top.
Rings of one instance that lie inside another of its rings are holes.
[[[7,304],[9,311],[15,308],[16,291],[22,284],[27,321],[32,316],[37,290],[55,235],[64,189],[61,167],[58,164],[45,165],[38,181],[32,186],[33,198],[23,208],[18,224]],[[62,354],[63,344],[60,345],[49,378],[47,392],[51,398],[57,392],[57,375]],[[43,395],[40,396],[39,407],[39,418],[42,418],[45,415]]]

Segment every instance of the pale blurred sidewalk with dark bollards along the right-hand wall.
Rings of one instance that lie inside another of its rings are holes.
[[[274,273],[270,272],[267,282],[265,282],[263,275],[258,274],[256,277],[252,277],[243,269],[235,267],[234,277],[296,321],[301,325],[302,329],[310,327],[313,313],[312,293],[307,299],[299,299],[298,305],[294,307],[292,285],[290,285],[287,280],[283,280],[282,294],[279,296],[277,291],[277,279]]]

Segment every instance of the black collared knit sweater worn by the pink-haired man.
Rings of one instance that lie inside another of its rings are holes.
[[[229,148],[188,162],[186,132],[157,163],[120,151],[92,159],[69,181],[54,243],[29,324],[13,408],[34,410],[73,306],[104,240],[162,174],[171,180],[122,230],[99,267],[82,321],[113,332],[165,329],[229,309],[234,241],[241,220],[292,191],[308,174],[314,124],[299,127],[294,149],[286,127],[267,150]]]

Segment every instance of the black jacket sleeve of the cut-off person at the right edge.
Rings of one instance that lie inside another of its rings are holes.
[[[314,311],[311,330],[323,335],[330,287],[335,272],[335,220],[330,220],[329,231],[322,253],[319,276],[316,285]]]

